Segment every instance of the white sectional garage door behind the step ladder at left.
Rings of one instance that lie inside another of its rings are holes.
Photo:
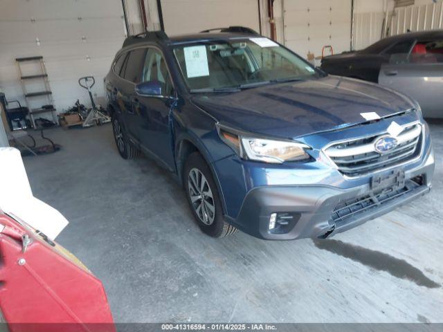
[[[15,58],[42,55],[58,111],[78,98],[90,104],[78,86],[86,75],[96,77],[100,102],[103,77],[124,38],[121,0],[2,0],[0,89],[8,100],[23,102]]]

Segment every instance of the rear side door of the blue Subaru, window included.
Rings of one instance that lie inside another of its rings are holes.
[[[118,95],[117,100],[119,101],[118,104],[122,111],[127,133],[136,143],[140,142],[140,138],[138,133],[139,116],[136,113],[137,96],[135,86],[141,81],[146,50],[146,48],[136,48],[129,51],[129,55],[127,55],[123,68],[120,71],[120,76],[123,80],[120,80],[119,86],[116,87],[117,91],[115,91],[116,95]]]

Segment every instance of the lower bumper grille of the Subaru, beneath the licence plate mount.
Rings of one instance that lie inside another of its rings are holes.
[[[368,212],[368,210],[378,208],[379,206],[388,203],[393,199],[397,199],[399,196],[403,196],[404,194],[415,190],[415,188],[417,187],[419,187],[418,183],[412,180],[408,180],[406,181],[405,186],[400,189],[390,188],[387,190],[383,190],[378,194],[371,193],[365,196],[361,196],[358,199],[345,201],[336,206],[334,212],[332,212],[331,221],[332,223],[346,221],[353,216],[356,216],[363,212]]]

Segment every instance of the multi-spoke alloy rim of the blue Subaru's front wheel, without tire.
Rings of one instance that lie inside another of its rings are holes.
[[[203,173],[192,168],[188,174],[188,188],[192,208],[205,225],[211,225],[215,219],[215,203],[213,192]]]

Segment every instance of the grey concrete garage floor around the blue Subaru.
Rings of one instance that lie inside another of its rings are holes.
[[[62,151],[24,162],[116,322],[442,322],[443,122],[431,132],[433,192],[325,241],[205,236],[168,172],[120,158],[109,124],[47,131]]]

